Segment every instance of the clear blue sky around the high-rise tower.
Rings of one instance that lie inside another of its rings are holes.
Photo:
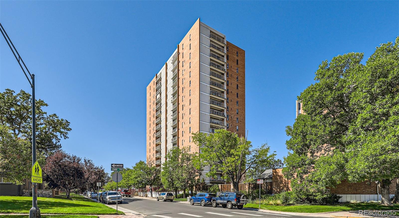
[[[146,86],[197,18],[245,50],[249,139],[282,158],[296,96],[321,61],[394,41],[398,11],[399,1],[0,1],[37,98],[71,122],[63,149],[107,171],[145,159]],[[30,92],[1,38],[5,88]]]

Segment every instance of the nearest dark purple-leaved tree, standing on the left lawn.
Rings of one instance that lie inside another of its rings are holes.
[[[51,189],[63,189],[67,198],[72,189],[85,184],[85,169],[81,158],[59,150],[47,157],[43,167],[44,180]]]

